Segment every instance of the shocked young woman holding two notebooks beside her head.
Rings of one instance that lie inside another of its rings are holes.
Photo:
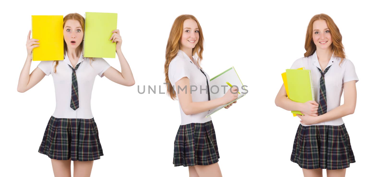
[[[52,75],[56,93],[56,109],[46,127],[39,153],[51,158],[55,177],[90,176],[93,161],[103,156],[98,129],[91,112],[91,92],[96,75],[111,81],[132,86],[135,81],[121,51],[122,39],[118,29],[111,31],[111,42],[116,42],[121,73],[103,58],[85,58],[82,54],[84,18],[78,13],[64,17],[64,60],[42,61],[29,74],[31,52],[39,47],[38,39],[28,33],[27,58],[20,73],[17,91],[25,92]]]

